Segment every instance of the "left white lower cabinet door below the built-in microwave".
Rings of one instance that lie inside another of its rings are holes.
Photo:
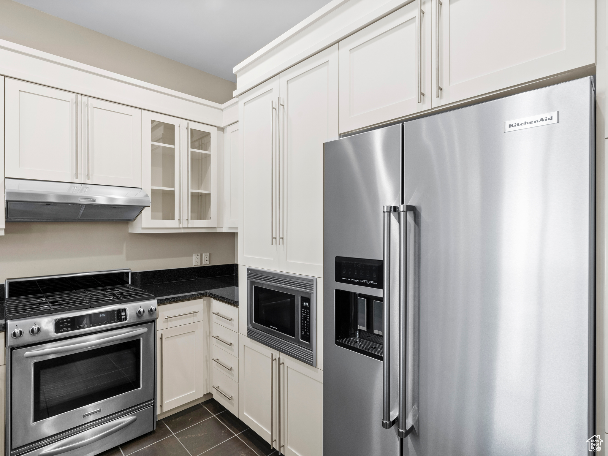
[[[272,439],[277,438],[278,351],[271,351],[270,348],[243,334],[239,334],[239,351],[238,417],[264,440],[271,443],[271,414]],[[271,355],[274,359],[272,364]]]

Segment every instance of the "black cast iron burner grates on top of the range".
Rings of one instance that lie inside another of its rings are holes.
[[[94,284],[100,285],[99,282]],[[49,286],[47,289],[53,288]],[[38,294],[7,298],[4,313],[6,320],[15,320],[150,299],[154,299],[154,296],[129,284],[45,293],[40,293],[39,288]]]

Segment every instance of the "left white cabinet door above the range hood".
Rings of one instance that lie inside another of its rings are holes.
[[[81,182],[76,94],[6,78],[5,176]]]

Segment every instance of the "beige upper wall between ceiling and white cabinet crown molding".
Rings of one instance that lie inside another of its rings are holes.
[[[231,81],[11,0],[0,0],[0,39],[216,103],[232,99],[236,88]]]

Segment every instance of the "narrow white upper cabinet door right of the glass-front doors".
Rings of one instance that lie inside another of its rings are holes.
[[[223,226],[238,228],[238,122],[224,128]]]

